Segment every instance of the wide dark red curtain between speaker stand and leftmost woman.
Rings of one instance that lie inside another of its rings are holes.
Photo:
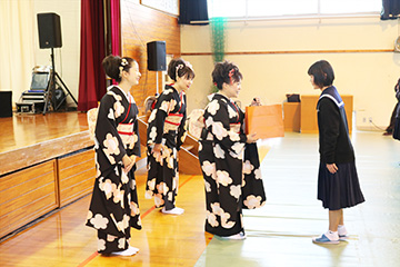
[[[104,48],[103,1],[81,1],[81,49],[78,110],[98,107],[106,93],[106,73],[101,61]]]

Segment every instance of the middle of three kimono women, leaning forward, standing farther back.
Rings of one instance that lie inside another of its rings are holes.
[[[168,76],[174,81],[167,85],[158,97],[148,120],[148,182],[146,198],[154,197],[156,207],[163,214],[181,215],[176,207],[178,194],[178,150],[186,137],[187,100],[184,90],[193,82],[194,71],[189,62],[172,59]]]

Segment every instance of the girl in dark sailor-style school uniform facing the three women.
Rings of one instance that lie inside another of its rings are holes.
[[[318,199],[329,209],[329,229],[314,243],[339,244],[347,239],[343,208],[364,201],[361,192],[354,150],[349,138],[349,128],[342,101],[333,83],[334,73],[326,60],[317,61],[309,70],[311,85],[320,89],[318,100],[318,128],[320,166],[318,175]]]

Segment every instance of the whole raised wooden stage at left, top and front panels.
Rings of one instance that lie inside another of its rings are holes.
[[[0,238],[91,191],[86,113],[13,113],[0,129]]]

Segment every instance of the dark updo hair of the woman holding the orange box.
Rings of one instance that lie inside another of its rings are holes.
[[[243,79],[243,76],[239,71],[238,66],[227,60],[216,63],[214,70],[212,71],[211,76],[212,82],[219,90],[222,89],[223,82],[231,85]]]

